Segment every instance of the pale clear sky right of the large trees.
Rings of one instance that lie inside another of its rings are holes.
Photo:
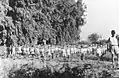
[[[83,0],[87,5],[87,23],[81,28],[81,39],[98,33],[104,39],[114,29],[119,34],[119,0]]]

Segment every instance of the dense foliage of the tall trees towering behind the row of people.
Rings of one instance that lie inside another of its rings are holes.
[[[43,39],[62,44],[80,39],[85,24],[82,0],[1,0],[1,40],[37,44]],[[11,44],[8,43],[7,44]]]

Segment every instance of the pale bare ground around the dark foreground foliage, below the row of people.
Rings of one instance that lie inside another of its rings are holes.
[[[20,70],[25,68],[25,66],[31,68],[37,68],[42,70],[43,68],[50,68],[50,71],[54,73],[54,71],[63,73],[66,71],[66,67],[61,69],[65,64],[69,66],[70,69],[75,67],[84,68],[85,65],[89,65],[89,68],[86,68],[85,74],[95,73],[95,77],[97,78],[117,78],[119,77],[119,70],[112,68],[112,63],[107,61],[96,61],[96,60],[85,60],[78,61],[72,60],[70,62],[59,62],[57,60],[50,60],[42,62],[40,59],[13,59],[13,58],[0,58],[0,78],[17,78],[17,77],[8,77],[8,75],[13,71]],[[79,71],[79,70],[78,70]],[[102,74],[103,73],[103,74]],[[106,73],[106,74],[105,74]],[[98,75],[98,76],[97,76]],[[99,77],[100,75],[100,77]],[[105,75],[103,77],[102,75]],[[82,78],[95,78],[95,77],[82,77]]]

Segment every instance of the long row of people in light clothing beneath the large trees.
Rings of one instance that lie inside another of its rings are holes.
[[[103,50],[102,47],[80,47],[73,45],[65,46],[53,46],[53,45],[38,45],[35,47],[29,46],[12,46],[6,48],[6,55],[9,56],[35,56],[40,59],[57,59],[57,58],[80,58],[84,60],[85,55],[99,54],[99,57],[104,53],[106,48]]]

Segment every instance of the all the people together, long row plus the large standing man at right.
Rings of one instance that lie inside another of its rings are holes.
[[[99,55],[99,57],[106,51],[111,52],[112,54],[112,63],[115,65],[115,63],[118,63],[119,65],[119,44],[118,44],[118,37],[116,36],[115,30],[111,31],[111,36],[108,39],[108,45],[107,48],[103,50],[102,47],[96,47],[95,53]],[[6,47],[6,53],[7,55],[40,55],[43,57],[71,57],[73,54],[87,54],[93,52],[93,47],[77,47],[72,45],[66,45],[66,46],[51,46],[51,45],[45,45],[45,46],[36,46],[36,47],[28,47],[28,46],[18,46],[18,47]],[[117,61],[115,61],[115,58],[117,58]]]

